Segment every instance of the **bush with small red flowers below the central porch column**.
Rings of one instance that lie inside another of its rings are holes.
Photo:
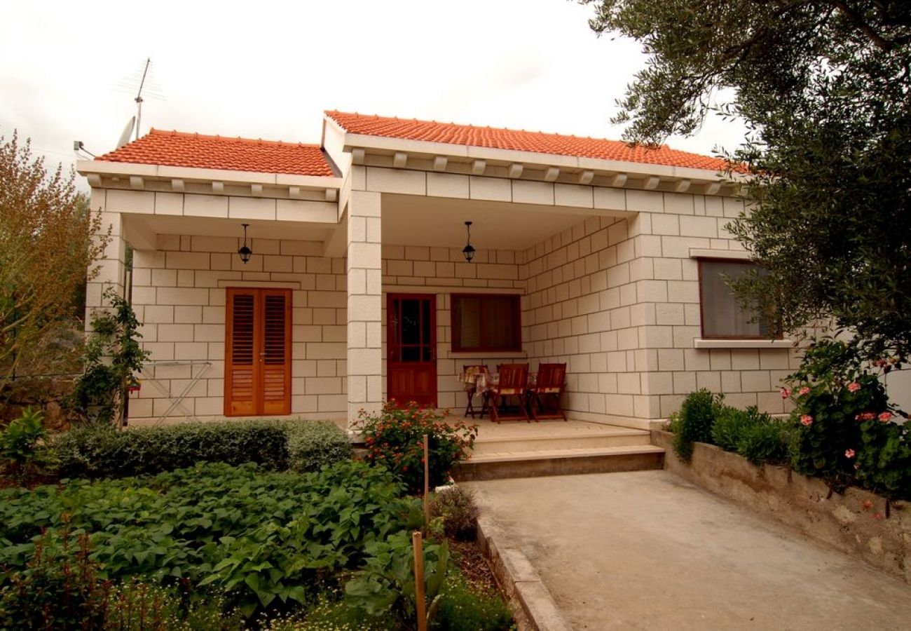
[[[448,412],[421,408],[414,401],[399,409],[387,402],[379,413],[361,412],[356,427],[367,446],[364,460],[393,471],[409,491],[424,489],[424,437],[430,454],[431,488],[444,484],[453,463],[465,457],[477,436],[476,425],[446,422]]]

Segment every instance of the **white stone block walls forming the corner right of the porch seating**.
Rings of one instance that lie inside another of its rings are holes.
[[[693,344],[701,327],[690,251],[740,249],[724,225],[741,202],[627,191],[626,208],[639,214],[590,218],[521,254],[533,365],[567,362],[578,418],[667,418],[697,388],[783,412],[778,388],[797,365],[793,350]]]

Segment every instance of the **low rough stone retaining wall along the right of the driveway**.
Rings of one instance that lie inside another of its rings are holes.
[[[703,443],[694,445],[691,463],[684,464],[672,440],[670,432],[651,432],[652,444],[667,450],[666,470],[911,583],[908,502],[892,502],[886,517],[885,499],[875,493],[852,487],[828,497],[821,480],[785,467],[757,467],[736,453]]]

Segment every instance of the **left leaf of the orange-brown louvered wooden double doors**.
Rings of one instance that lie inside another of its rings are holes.
[[[229,289],[225,345],[225,416],[257,413],[255,289]]]

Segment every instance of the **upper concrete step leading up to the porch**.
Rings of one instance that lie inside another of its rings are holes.
[[[649,432],[641,429],[609,429],[604,431],[566,431],[546,436],[497,436],[475,440],[474,456],[516,451],[548,451],[598,449],[626,445],[649,445]]]

